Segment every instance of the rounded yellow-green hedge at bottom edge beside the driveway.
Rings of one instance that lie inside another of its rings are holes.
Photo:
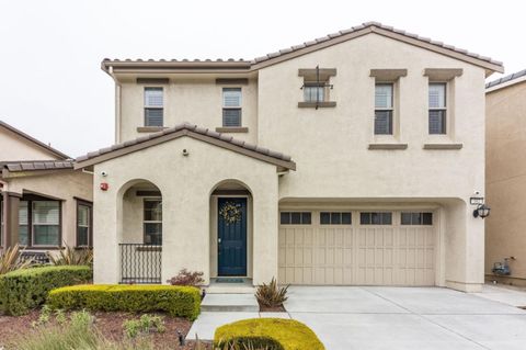
[[[250,318],[216,329],[214,345],[252,345],[279,350],[323,350],[316,334],[306,325],[283,318]]]

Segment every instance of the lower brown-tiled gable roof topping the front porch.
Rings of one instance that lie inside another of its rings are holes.
[[[284,169],[296,170],[296,163],[290,156],[270,150],[258,145],[248,144],[243,140],[235,139],[231,136],[224,135],[208,128],[202,128],[197,125],[183,123],[175,127],[167,128],[159,133],[149,134],[133,140],[128,140],[111,147],[101,148],[96,151],[87,154],[76,159],[75,169],[90,167],[113,158],[135,153],[151,146],[156,146],[171,139],[182,136],[188,136],[202,142],[230,149],[232,151],[270,162]]]

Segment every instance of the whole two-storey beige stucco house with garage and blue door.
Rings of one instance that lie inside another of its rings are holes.
[[[96,283],[187,268],[206,283],[480,290],[469,199],[501,63],[366,23],[253,60],[102,69],[117,145],[75,166],[94,172]]]

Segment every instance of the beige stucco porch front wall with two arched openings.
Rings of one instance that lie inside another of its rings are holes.
[[[190,155],[184,157],[182,150]],[[107,177],[102,178],[101,171]],[[163,204],[162,281],[180,269],[204,271],[209,282],[213,189],[233,179],[245,184],[253,197],[253,281],[277,275],[276,167],[206,143],[182,137],[96,165],[94,206],[95,283],[119,279],[118,244],[123,241],[122,192],[142,179],[159,188]],[[104,192],[98,183],[107,182]]]

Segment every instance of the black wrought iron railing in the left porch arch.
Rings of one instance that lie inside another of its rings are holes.
[[[121,283],[161,283],[161,246],[140,244],[118,246]]]

